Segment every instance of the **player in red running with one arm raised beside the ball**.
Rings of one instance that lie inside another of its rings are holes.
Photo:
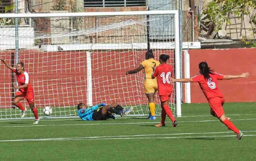
[[[22,115],[21,117],[24,118],[26,114],[26,107],[23,107],[22,104],[20,103],[21,100],[25,99],[27,100],[29,107],[31,111],[34,113],[35,120],[33,124],[38,124],[39,118],[38,118],[38,111],[37,108],[35,108],[34,104],[34,91],[33,87],[29,83],[29,76],[26,71],[24,71],[24,64],[23,62],[19,62],[16,65],[16,69],[10,66],[8,62],[6,62],[1,56],[0,60],[3,61],[3,63],[6,65],[7,68],[11,69],[15,74],[18,82],[18,86],[14,85],[15,89],[18,89],[18,91],[15,94],[15,98],[13,100],[13,103],[15,106],[17,106],[19,109],[22,110]]]

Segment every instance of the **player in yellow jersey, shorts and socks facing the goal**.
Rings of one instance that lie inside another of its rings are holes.
[[[156,66],[159,66],[160,62],[154,59],[152,49],[147,51],[145,54],[145,60],[141,62],[140,66],[137,69],[127,71],[125,74],[133,74],[138,73],[143,69],[144,73],[144,90],[148,99],[148,106],[150,110],[150,114],[148,119],[156,120],[155,117],[155,103],[154,96],[157,91],[157,81],[156,79],[152,79],[151,76],[153,74],[153,69]]]

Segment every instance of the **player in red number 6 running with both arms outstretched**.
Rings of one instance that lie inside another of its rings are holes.
[[[230,130],[237,134],[237,140],[240,140],[243,133],[225,116],[223,110],[224,97],[222,92],[218,88],[218,80],[221,79],[236,79],[236,78],[246,78],[250,76],[249,73],[242,73],[240,75],[221,75],[213,72],[213,70],[208,67],[207,62],[199,63],[199,73],[192,78],[183,79],[173,79],[170,78],[172,82],[198,82],[203,94],[211,108],[211,114],[218,118],[224,125],[226,125]]]

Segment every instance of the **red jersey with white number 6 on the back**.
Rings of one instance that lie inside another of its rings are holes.
[[[193,82],[198,82],[203,94],[207,99],[213,97],[223,97],[221,90],[218,88],[218,79],[223,79],[223,75],[213,72],[209,74],[210,78],[207,80],[202,74],[192,77]]]

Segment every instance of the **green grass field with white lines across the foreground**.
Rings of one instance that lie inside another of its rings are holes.
[[[0,160],[256,160],[256,103],[226,103],[242,140],[209,113],[183,104],[177,127],[145,117],[106,121],[0,120]]]

